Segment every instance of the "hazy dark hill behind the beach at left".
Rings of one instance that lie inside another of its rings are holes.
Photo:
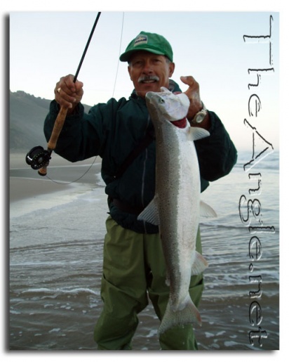
[[[28,152],[34,146],[46,148],[43,122],[48,113],[50,100],[36,98],[24,91],[10,92],[9,148],[11,152]],[[86,111],[90,108],[85,105]]]

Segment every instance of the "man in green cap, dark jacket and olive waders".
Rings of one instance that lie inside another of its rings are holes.
[[[83,84],[63,77],[55,87],[55,101],[46,117],[44,131],[51,135],[60,105],[68,107],[67,119],[55,149],[72,162],[94,155],[102,157],[102,178],[106,183],[109,217],[105,236],[102,300],[104,309],[95,326],[98,349],[131,349],[137,328],[137,313],[151,299],[161,319],[168,302],[166,266],[157,226],[137,221],[137,215],[154,197],[155,143],[149,140],[132,160],[123,166],[154,127],[145,103],[147,91],[180,91],[173,75],[173,50],[159,34],[141,32],[128,44],[120,57],[128,62],[134,85],[130,98],[109,100],[83,112]],[[226,174],[236,162],[236,148],[215,113],[201,102],[199,84],[193,77],[181,77],[187,84],[190,101],[187,118],[193,127],[208,129],[210,136],[196,141],[201,172],[201,190]],[[197,122],[201,121],[201,122]],[[201,252],[198,235],[196,250]],[[189,293],[198,306],[203,290],[203,276],[191,277]],[[177,326],[159,337],[161,349],[198,349],[192,325]]]

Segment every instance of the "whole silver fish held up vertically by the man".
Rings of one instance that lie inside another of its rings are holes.
[[[161,92],[147,92],[146,102],[156,134],[156,191],[138,219],[159,225],[161,234],[170,285],[168,306],[159,328],[161,334],[174,325],[201,325],[200,313],[189,296],[189,283],[191,275],[208,266],[196,251],[200,214],[216,214],[200,200],[199,162],[194,146],[196,139],[210,133],[190,127],[187,119],[184,128],[172,123],[186,117],[189,98],[162,87]]]

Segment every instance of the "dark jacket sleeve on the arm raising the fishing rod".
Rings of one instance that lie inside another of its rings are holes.
[[[100,155],[106,127],[102,115],[103,106],[98,105],[90,108],[90,112],[86,114],[83,105],[79,103],[74,114],[65,119],[55,153],[70,162]],[[44,134],[47,141],[51,137],[58,112],[59,105],[52,101],[44,121]]]

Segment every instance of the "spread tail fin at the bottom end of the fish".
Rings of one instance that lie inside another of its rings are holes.
[[[201,325],[201,316],[188,293],[186,302],[184,302],[184,307],[182,309],[173,310],[170,300],[168,301],[166,312],[161,320],[158,334],[161,335],[163,332],[166,332],[166,330],[177,325],[191,323],[198,323]]]

